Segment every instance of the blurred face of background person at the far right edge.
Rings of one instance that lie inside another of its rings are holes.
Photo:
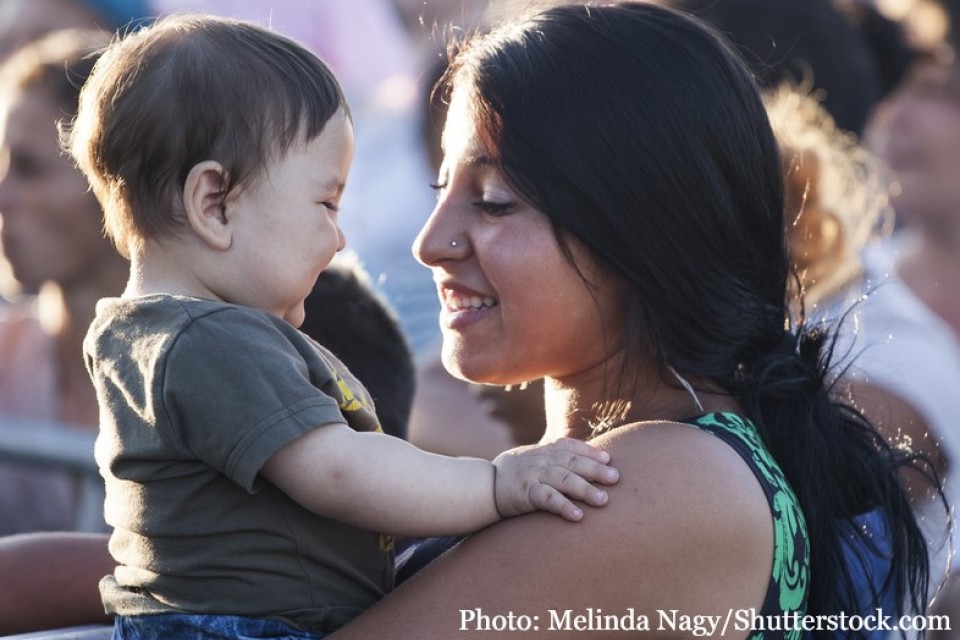
[[[921,63],[878,107],[867,139],[900,184],[894,205],[906,219],[956,215],[960,201],[960,68]]]

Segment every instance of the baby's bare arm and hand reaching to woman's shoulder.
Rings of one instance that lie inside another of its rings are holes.
[[[579,440],[511,449],[490,463],[417,449],[398,438],[333,423],[277,451],[261,474],[311,511],[404,536],[469,533],[543,509],[583,513],[566,497],[601,506],[616,472],[605,452]]]

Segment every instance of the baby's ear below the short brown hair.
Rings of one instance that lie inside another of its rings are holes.
[[[206,244],[221,251],[229,249],[233,242],[224,202],[228,179],[223,165],[205,160],[194,165],[183,185],[187,224]]]

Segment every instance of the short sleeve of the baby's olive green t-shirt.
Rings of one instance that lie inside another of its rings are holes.
[[[322,359],[299,352],[269,318],[230,309],[194,320],[177,337],[163,406],[188,455],[252,492],[284,445],[345,422],[337,400],[320,390],[331,378]]]

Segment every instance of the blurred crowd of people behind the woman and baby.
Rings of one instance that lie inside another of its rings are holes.
[[[796,314],[807,325],[842,321],[837,393],[944,480],[947,507],[913,496],[935,590],[953,562],[960,500],[960,2],[659,2],[717,27],[765,89]],[[356,156],[340,214],[349,255],[318,281],[304,331],[370,389],[390,416],[384,427],[421,448],[492,458],[537,442],[540,381],[481,386],[442,367],[435,285],[410,248],[435,199],[445,105],[431,89],[448,36],[546,3],[3,0],[0,431],[29,439],[37,421],[96,432],[81,342],[97,300],[123,290],[127,264],[61,153],[57,123],[75,112],[89,56],[113,34],[196,10],[305,43],[352,105]],[[76,529],[81,487],[76,471],[0,451],[0,535]]]

